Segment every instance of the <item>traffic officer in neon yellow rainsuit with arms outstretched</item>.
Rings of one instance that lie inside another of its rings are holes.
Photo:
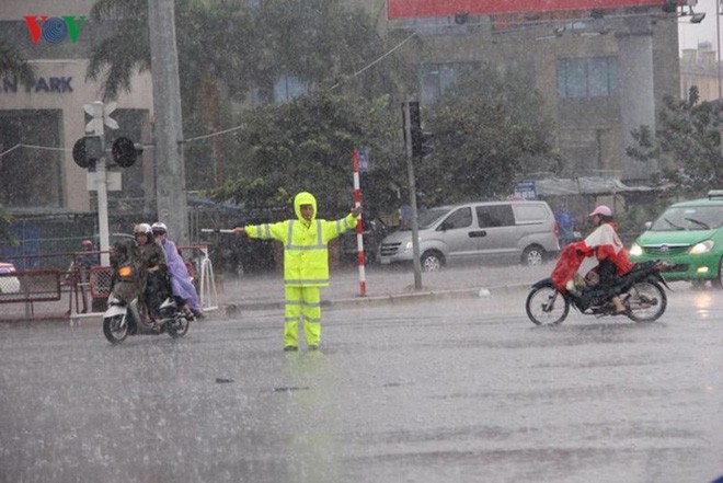
[[[355,228],[362,212],[358,206],[336,221],[317,219],[317,198],[311,193],[294,197],[294,211],[298,219],[239,227],[233,231],[250,238],[274,239],[284,244],[284,350],[297,350],[299,346],[299,320],[309,350],[321,343],[321,289],[329,286],[330,240]]]

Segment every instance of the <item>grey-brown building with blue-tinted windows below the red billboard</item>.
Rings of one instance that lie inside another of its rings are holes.
[[[633,3],[633,2],[631,2]],[[565,175],[645,183],[656,161],[626,154],[630,133],[679,90],[677,14],[661,5],[520,14],[385,19],[387,32],[414,32],[404,55],[431,103],[464,66],[491,62],[531,73],[556,120]]]

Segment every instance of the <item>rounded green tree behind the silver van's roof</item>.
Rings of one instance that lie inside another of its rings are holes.
[[[464,72],[425,116],[434,151],[416,172],[426,204],[504,198],[518,176],[558,169],[553,124],[531,77],[519,71]]]

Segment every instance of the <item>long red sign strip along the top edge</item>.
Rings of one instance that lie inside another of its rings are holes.
[[[664,3],[664,0],[387,0],[387,18],[394,20],[447,16],[462,12],[471,15],[498,15],[618,7],[662,8]]]

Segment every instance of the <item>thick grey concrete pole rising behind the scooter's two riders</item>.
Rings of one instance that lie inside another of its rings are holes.
[[[153,78],[153,136],[158,218],[179,244],[188,243],[188,207],[183,160],[183,119],[173,0],[148,2]]]

